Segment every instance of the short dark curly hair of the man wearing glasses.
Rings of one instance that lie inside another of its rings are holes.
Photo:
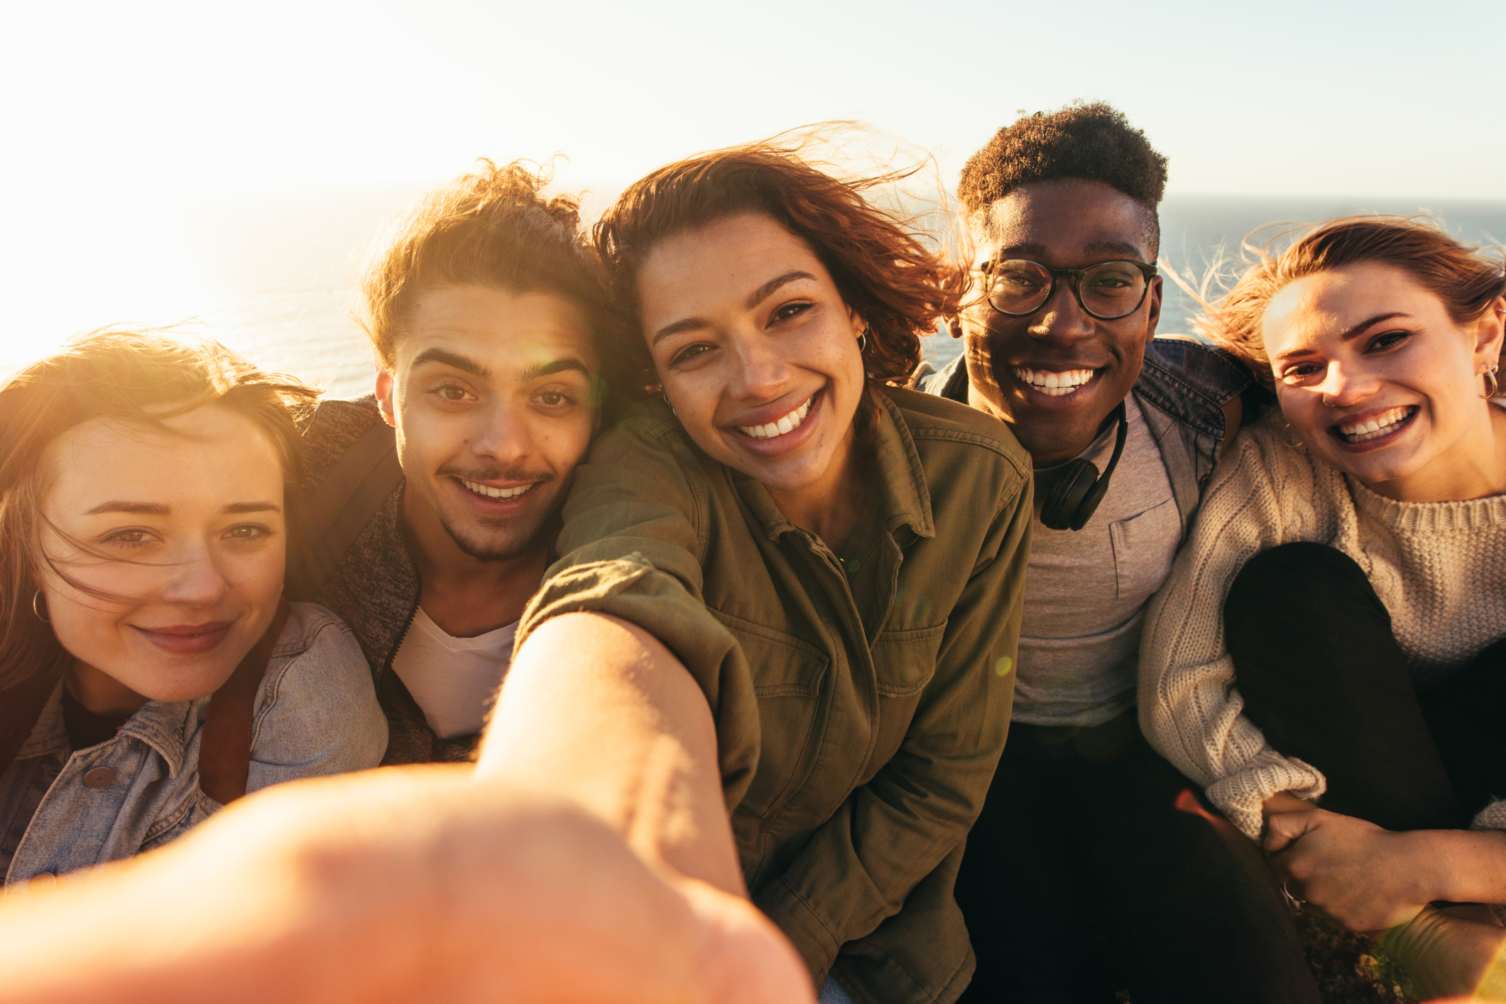
[[[1101,181],[1154,217],[1166,193],[1166,157],[1113,105],[1074,101],[998,129],[962,167],[956,196],[971,215],[1021,185],[1066,179]]]

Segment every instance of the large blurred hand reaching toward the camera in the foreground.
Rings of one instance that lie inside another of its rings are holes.
[[[0,972],[0,1004],[815,999],[747,900],[467,768],[280,786],[169,847],[11,896]]]

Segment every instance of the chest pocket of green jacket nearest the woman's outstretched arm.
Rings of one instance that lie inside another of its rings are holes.
[[[828,659],[794,635],[717,614],[742,647],[758,695],[759,757],[738,808],[764,816],[804,772],[816,744]]]

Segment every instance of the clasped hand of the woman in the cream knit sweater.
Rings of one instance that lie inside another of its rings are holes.
[[[1267,826],[1276,879],[1349,930],[1405,924],[1434,899],[1411,834],[1315,807],[1271,813]]]

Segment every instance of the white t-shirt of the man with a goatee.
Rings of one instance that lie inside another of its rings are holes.
[[[512,662],[518,622],[474,638],[446,634],[419,608],[404,635],[393,673],[402,680],[440,739],[480,732]]]

